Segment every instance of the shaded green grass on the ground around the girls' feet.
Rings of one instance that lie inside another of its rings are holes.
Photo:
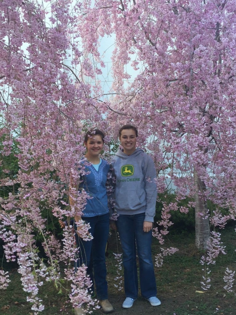
[[[134,303],[131,309],[122,309],[124,292],[118,292],[114,287],[116,276],[115,259],[113,252],[117,252],[115,234],[109,239],[107,257],[107,280],[109,284],[109,299],[115,308],[114,314],[126,315],[234,315],[236,310],[235,286],[233,293],[227,293],[223,286],[224,271],[226,267],[236,269],[236,233],[233,226],[222,230],[222,240],[225,242],[228,255],[220,255],[216,259],[216,265],[209,266],[211,270],[211,288],[204,293],[200,281],[202,281],[202,266],[199,261],[202,253],[199,253],[194,245],[194,234],[172,234],[168,236],[167,244],[177,247],[179,251],[166,256],[163,266],[155,267],[158,294],[162,304],[152,307],[142,297]],[[154,240],[153,257],[159,252],[160,244]],[[120,250],[120,246],[119,246]],[[1,315],[31,315],[31,305],[26,302],[26,293],[23,291],[20,275],[16,268],[9,265],[11,283],[6,290],[1,291],[0,313]],[[64,284],[66,285],[66,284]],[[68,285],[69,286],[69,285]],[[47,283],[40,288],[40,296],[44,302],[45,310],[42,315],[73,314],[68,302],[68,293],[62,290],[61,294],[53,283]],[[101,311],[94,311],[94,315]]]

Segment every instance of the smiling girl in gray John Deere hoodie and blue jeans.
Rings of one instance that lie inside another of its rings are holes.
[[[160,305],[156,297],[156,281],[151,255],[152,226],[155,216],[157,188],[154,162],[143,150],[136,148],[137,129],[124,125],[119,131],[122,149],[116,153],[113,168],[116,177],[115,209],[123,252],[126,299],[129,308],[138,297],[136,248],[139,259],[141,295],[152,306]],[[111,224],[111,226],[114,223]]]

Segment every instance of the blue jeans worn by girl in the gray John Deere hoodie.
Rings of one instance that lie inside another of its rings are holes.
[[[143,232],[145,213],[119,215],[116,221],[123,251],[124,286],[126,297],[138,297],[138,272],[136,246],[139,259],[141,295],[144,298],[156,296],[156,281],[152,262],[152,231]]]

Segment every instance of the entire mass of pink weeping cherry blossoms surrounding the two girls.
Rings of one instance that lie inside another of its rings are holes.
[[[159,191],[166,178],[176,186],[176,203],[163,202],[154,235],[164,243],[170,211],[187,213],[178,202],[188,195],[196,245],[207,249],[201,263],[214,263],[213,249],[224,252],[214,229],[235,219],[234,1],[2,0],[0,8],[1,155],[9,156],[16,141],[18,159],[16,175],[3,169],[1,186],[19,186],[0,200],[0,235],[7,260],[18,261],[34,311],[43,308],[37,294],[43,281],[60,285],[58,261],[66,263],[73,306],[94,304],[84,269],[74,275],[73,234],[65,229],[56,251],[58,241],[41,215],[44,209],[57,218],[75,215],[68,205],[70,177],[78,178],[75,162],[83,156],[87,128],[100,127],[107,140],[116,140],[121,124],[138,127],[139,145],[156,164]],[[104,91],[100,43],[111,37],[114,83]],[[126,71],[131,68],[133,76]],[[79,195],[81,209],[85,202]],[[47,265],[37,255],[39,234]],[[161,249],[157,265],[174,251]],[[0,275],[6,284],[8,275]]]

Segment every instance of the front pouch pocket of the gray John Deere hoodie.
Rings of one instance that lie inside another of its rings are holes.
[[[135,190],[120,190],[115,203],[119,209],[139,209],[142,204]]]

